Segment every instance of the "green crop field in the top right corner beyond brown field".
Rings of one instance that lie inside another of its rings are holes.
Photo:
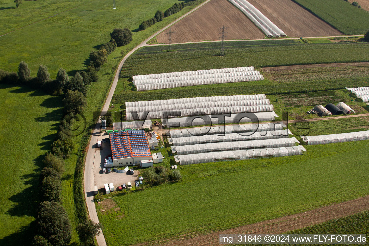
[[[346,35],[365,34],[369,13],[342,0],[293,0]]]

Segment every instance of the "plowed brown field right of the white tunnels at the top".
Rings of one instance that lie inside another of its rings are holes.
[[[291,0],[248,0],[248,2],[291,38],[343,35]]]

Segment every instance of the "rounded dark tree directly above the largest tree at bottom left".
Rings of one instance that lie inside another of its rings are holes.
[[[54,201],[60,203],[62,191],[62,181],[55,176],[48,176],[42,180],[41,194],[44,201]]]

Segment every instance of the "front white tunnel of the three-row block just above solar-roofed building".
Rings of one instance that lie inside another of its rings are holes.
[[[184,110],[175,110],[180,112],[180,116],[195,115],[213,115],[213,114],[238,114],[238,113],[254,113],[254,112],[271,112],[274,110],[273,105],[255,105],[255,106],[235,106],[235,107],[212,107],[212,108],[190,108]],[[127,112],[127,121],[134,119],[159,119],[165,118],[168,111],[146,111],[146,112]],[[136,116],[135,116],[136,115]],[[135,118],[136,117],[136,118]]]

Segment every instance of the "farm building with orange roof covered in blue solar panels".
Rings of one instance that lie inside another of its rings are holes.
[[[135,166],[141,160],[151,160],[145,131],[127,130],[110,133],[113,167]]]

